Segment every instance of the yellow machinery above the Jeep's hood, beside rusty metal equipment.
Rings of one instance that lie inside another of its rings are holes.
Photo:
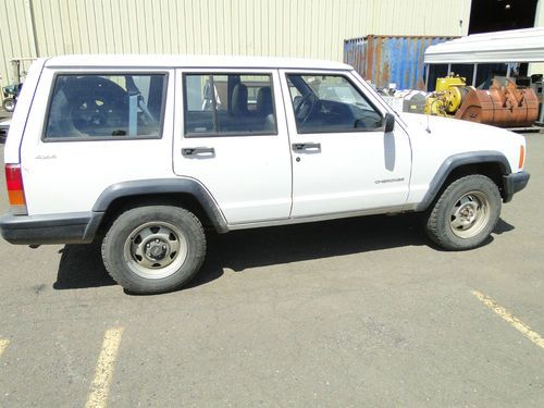
[[[461,76],[446,76],[436,79],[436,90],[426,97],[424,113],[437,116],[454,115],[461,106],[467,94],[474,89],[467,86]]]

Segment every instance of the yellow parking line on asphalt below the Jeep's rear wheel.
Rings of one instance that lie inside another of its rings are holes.
[[[98,357],[95,380],[90,385],[86,408],[106,407],[122,334],[122,327],[113,327],[109,329],[103,336],[102,351]]]

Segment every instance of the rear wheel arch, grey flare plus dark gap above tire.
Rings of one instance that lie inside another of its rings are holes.
[[[218,233],[228,231],[226,220],[211,194],[198,181],[188,177],[152,178],[116,183],[98,197],[92,211],[102,213],[97,230],[103,230],[126,208],[145,205],[184,207]]]

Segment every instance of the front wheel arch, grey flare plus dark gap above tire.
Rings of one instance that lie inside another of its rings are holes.
[[[510,163],[499,151],[490,150],[450,156],[438,168],[416,211],[426,210],[450,183],[469,174],[482,174],[490,177],[497,185],[500,196],[505,200],[506,191],[503,176],[510,173]]]

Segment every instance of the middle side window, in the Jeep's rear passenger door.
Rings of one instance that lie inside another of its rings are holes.
[[[185,135],[276,135],[272,78],[251,74],[184,76]]]

